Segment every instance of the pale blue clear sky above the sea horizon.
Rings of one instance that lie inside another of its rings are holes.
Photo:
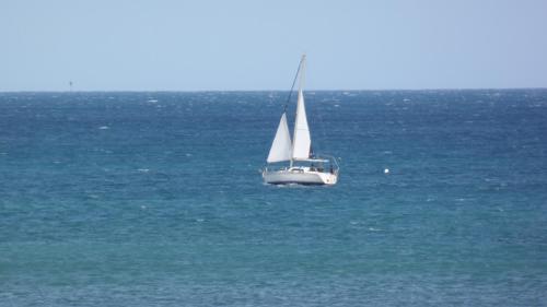
[[[0,91],[547,87],[545,0],[0,0]]]

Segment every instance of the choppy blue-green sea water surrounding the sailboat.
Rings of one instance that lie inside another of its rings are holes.
[[[547,306],[547,90],[286,97],[1,93],[0,306]]]

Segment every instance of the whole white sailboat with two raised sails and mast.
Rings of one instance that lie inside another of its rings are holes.
[[[270,152],[263,169],[266,184],[274,185],[336,185],[339,167],[336,158],[329,155],[318,155],[312,151],[312,138],[307,125],[304,105],[304,72],[305,55],[299,63],[296,78],[299,78],[299,94],[296,101],[296,115],[294,119],[293,137],[291,140],[287,122],[287,105],[281,115],[276,137],[271,143]],[[294,82],[293,82],[294,87]],[[289,94],[292,93],[292,88]],[[281,165],[280,165],[281,163]],[[287,165],[287,163],[289,165]]]

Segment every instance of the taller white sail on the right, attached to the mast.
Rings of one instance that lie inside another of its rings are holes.
[[[294,144],[292,146],[293,160],[306,160],[310,157],[312,138],[307,127],[306,109],[304,106],[304,94],[299,90],[299,102],[296,106],[296,120],[294,122]]]

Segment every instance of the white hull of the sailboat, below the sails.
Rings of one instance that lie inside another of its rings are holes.
[[[338,180],[337,174],[309,170],[303,168],[264,170],[263,178],[266,184],[272,185],[335,185]]]

